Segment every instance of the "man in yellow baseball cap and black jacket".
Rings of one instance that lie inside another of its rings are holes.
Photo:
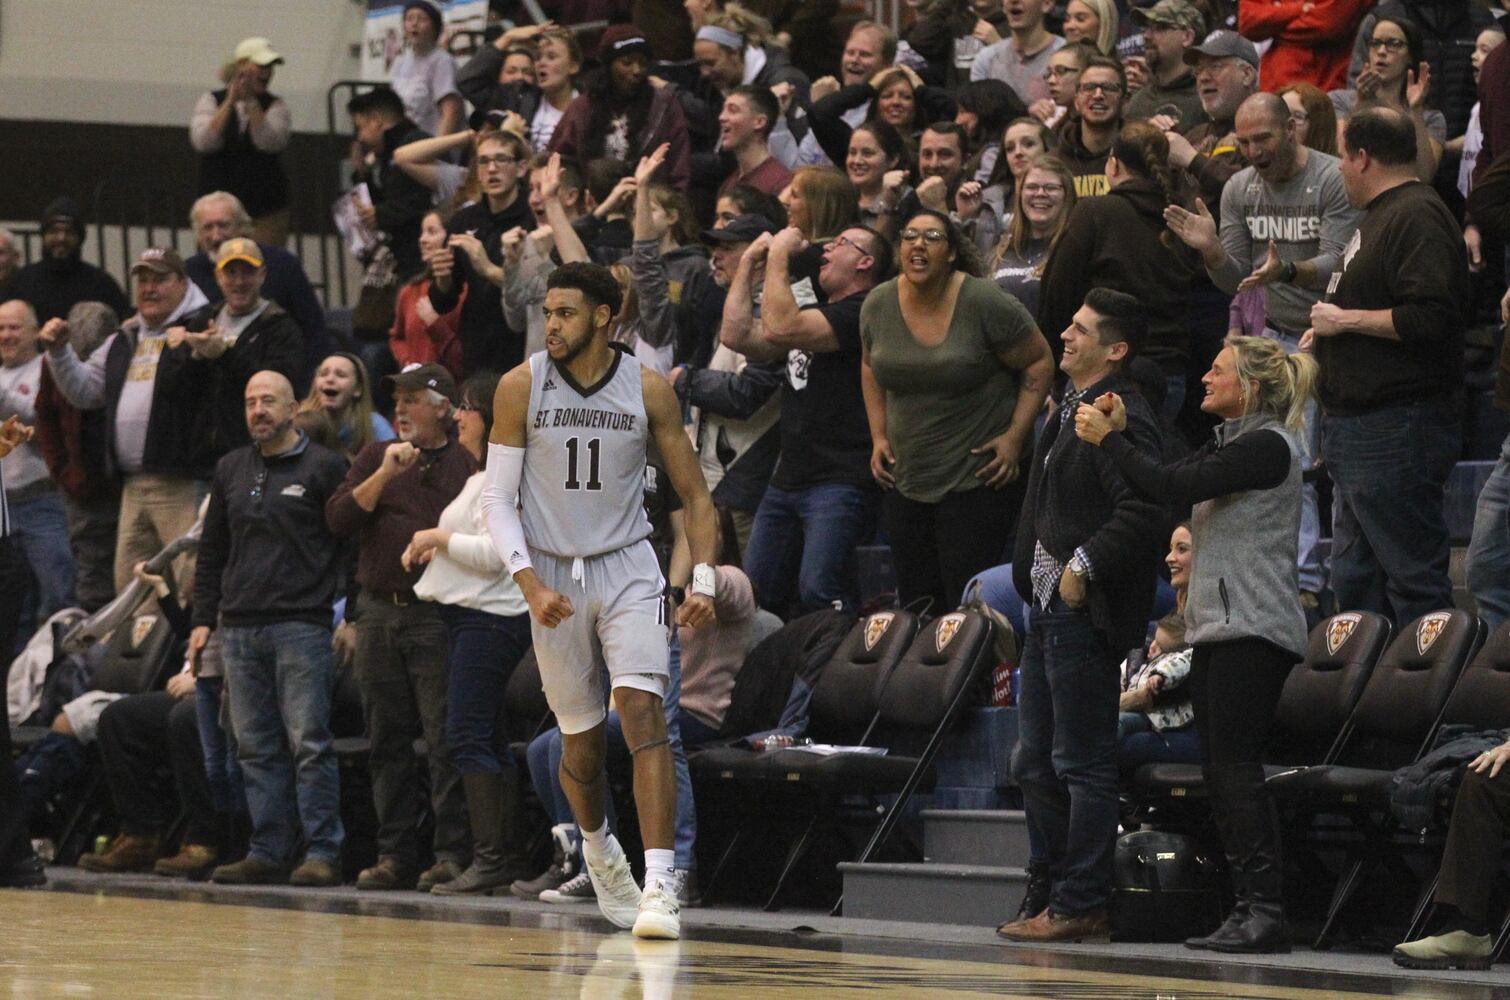
[[[304,331],[281,305],[264,299],[267,266],[255,240],[234,236],[214,254],[214,281],[223,301],[201,307],[169,328],[169,346],[189,344],[195,378],[213,384],[216,441],[222,450],[249,441],[243,390],[258,372],[290,382],[304,364]]]

